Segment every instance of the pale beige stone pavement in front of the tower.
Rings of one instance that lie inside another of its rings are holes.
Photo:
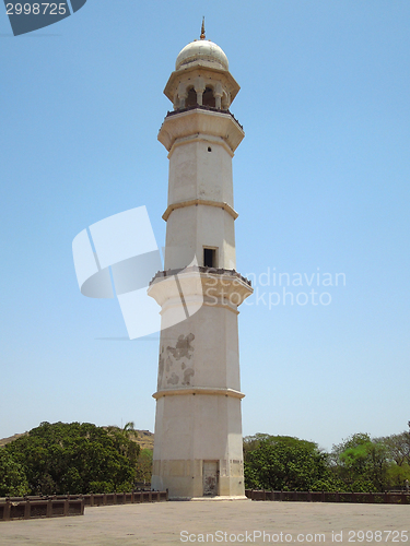
[[[410,531],[410,506],[171,501],[85,508],[82,517],[0,522],[0,545],[140,546],[213,542],[398,546],[409,542],[410,546],[410,533],[406,531]]]

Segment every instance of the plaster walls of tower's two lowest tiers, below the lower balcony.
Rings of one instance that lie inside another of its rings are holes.
[[[241,390],[237,314],[203,306],[164,330],[157,389],[153,488],[199,497],[202,461],[215,460],[220,494],[243,495],[241,399],[218,392]]]

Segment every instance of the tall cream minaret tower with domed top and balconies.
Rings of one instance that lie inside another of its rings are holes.
[[[152,488],[171,498],[244,498],[238,306],[253,292],[236,272],[232,158],[239,85],[206,39],[176,59],[160,129],[168,151],[165,271],[149,295],[162,307]]]

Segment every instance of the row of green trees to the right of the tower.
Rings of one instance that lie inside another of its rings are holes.
[[[410,480],[410,434],[355,434],[325,453],[314,442],[258,434],[244,439],[245,486],[276,490],[385,491]]]

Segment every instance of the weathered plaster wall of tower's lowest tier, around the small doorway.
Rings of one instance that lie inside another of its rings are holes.
[[[157,400],[152,486],[173,497],[202,495],[202,461],[219,461],[219,495],[243,496],[241,401],[187,394]],[[156,437],[155,437],[156,438]],[[157,454],[161,456],[157,456]]]

